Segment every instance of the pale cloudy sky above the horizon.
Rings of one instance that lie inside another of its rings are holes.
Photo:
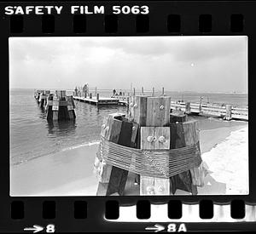
[[[10,88],[247,93],[247,37],[10,37]]]

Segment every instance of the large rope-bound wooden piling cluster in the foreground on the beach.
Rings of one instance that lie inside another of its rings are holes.
[[[198,122],[170,112],[166,95],[134,95],[126,115],[105,117],[94,165],[97,195],[197,194],[203,185]]]

